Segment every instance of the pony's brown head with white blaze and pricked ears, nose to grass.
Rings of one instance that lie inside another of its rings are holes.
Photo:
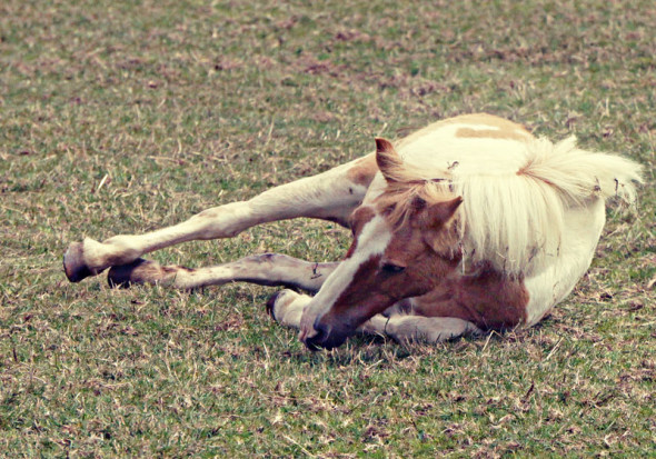
[[[387,187],[355,210],[346,259],[304,311],[300,339],[310,349],[340,346],[375,315],[433,290],[460,262],[455,216],[463,199],[441,179],[420,179],[385,139],[376,139],[376,160]]]

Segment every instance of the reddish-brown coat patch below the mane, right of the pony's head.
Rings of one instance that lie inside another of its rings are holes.
[[[414,313],[455,317],[483,330],[503,330],[526,322],[529,295],[524,279],[511,279],[484,265],[470,276],[445,280],[416,298]]]

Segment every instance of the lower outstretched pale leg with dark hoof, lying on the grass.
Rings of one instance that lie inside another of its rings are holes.
[[[108,281],[110,286],[163,283],[179,289],[242,281],[316,292],[338,265],[339,262],[316,263],[286,255],[264,253],[215,267],[190,269],[160,266],[155,261],[139,258],[129,265],[112,267],[108,273]]]

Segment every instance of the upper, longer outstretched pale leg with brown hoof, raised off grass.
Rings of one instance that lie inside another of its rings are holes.
[[[66,276],[78,282],[112,267],[131,263],[143,253],[190,240],[229,238],[247,228],[276,220],[310,217],[348,224],[376,173],[374,157],[361,158],[318,176],[272,188],[248,201],[205,210],[176,226],[145,235],[121,235],[98,242],[72,243],[63,257]]]

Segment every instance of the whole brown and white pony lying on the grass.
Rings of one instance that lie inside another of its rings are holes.
[[[73,242],[63,270],[78,282],[109,268],[110,286],[122,287],[282,286],[267,309],[311,350],[357,332],[438,342],[540,321],[589,268],[605,202],[633,202],[640,174],[638,163],[579,149],[574,137],[554,143],[465,114],[396,143],[376,138],[374,153],[169,228]],[[350,228],[345,259],[264,253],[190,269],[141,258],[297,217]]]

